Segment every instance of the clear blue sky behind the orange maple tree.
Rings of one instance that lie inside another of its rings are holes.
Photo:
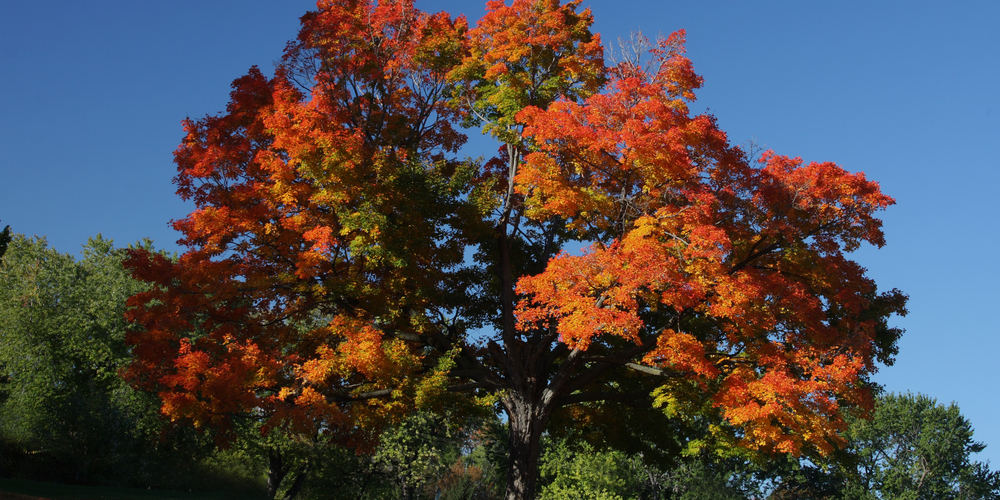
[[[470,5],[472,7],[470,7]],[[910,295],[892,391],[955,401],[1000,467],[995,303],[1000,2],[584,1],[605,42],[684,28],[733,142],[864,171],[898,204],[856,258]],[[473,2],[417,1],[477,19]],[[170,182],[180,120],[221,111],[313,4],[7,2],[0,16],[0,220],[76,252],[151,237],[190,206]]]

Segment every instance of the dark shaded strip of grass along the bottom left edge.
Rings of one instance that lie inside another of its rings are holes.
[[[0,500],[261,500],[261,498],[224,491],[141,490],[0,479]]]

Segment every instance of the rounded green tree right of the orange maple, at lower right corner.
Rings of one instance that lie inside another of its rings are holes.
[[[954,404],[883,394],[869,418],[853,416],[847,446],[827,460],[792,456],[723,462],[769,499],[997,498],[1000,474],[973,461],[985,448]]]

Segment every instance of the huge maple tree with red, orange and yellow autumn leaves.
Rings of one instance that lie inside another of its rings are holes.
[[[534,497],[553,412],[589,402],[716,412],[748,449],[840,445],[901,333],[905,296],[846,257],[884,244],[893,200],[730,145],[689,111],[683,32],[612,60],[579,4],[494,0],[470,28],[318,2],[273,78],[184,122],[188,251],[132,252],[154,286],[125,375],[222,437],[252,413],[361,447],[414,408],[496,401],[510,499]],[[460,125],[498,155],[459,159]]]

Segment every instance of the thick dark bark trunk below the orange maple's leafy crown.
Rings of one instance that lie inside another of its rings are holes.
[[[549,410],[517,396],[506,398],[510,438],[507,444],[507,493],[504,500],[534,500],[542,431]]]

